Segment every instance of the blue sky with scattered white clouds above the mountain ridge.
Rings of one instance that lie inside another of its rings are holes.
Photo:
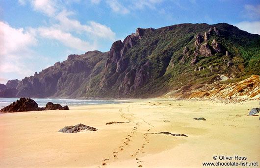
[[[260,0],[0,0],[0,83],[70,54],[109,51],[136,28],[228,23],[260,34]]]

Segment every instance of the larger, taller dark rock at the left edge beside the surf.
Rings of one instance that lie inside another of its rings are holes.
[[[0,112],[23,112],[23,111],[38,111],[38,104],[31,98],[22,97],[16,100],[9,106],[0,110]]]

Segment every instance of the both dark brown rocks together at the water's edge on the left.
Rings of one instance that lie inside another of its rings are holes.
[[[60,104],[48,102],[45,107],[38,107],[38,104],[31,98],[21,97],[0,112],[24,112],[24,111],[43,111],[43,110],[69,110],[68,106],[62,107]]]

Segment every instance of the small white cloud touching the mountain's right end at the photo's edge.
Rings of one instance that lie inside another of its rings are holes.
[[[257,22],[245,21],[245,22],[240,22],[240,23],[234,24],[234,25],[237,26],[241,30],[245,30],[249,33],[260,35],[260,21],[257,21]]]

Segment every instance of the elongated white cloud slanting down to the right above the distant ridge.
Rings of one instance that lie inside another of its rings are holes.
[[[77,37],[74,37],[71,33],[63,32],[60,29],[54,27],[40,27],[38,28],[40,36],[48,39],[55,39],[63,43],[65,46],[75,48],[80,51],[94,50],[95,44],[90,44]]]

